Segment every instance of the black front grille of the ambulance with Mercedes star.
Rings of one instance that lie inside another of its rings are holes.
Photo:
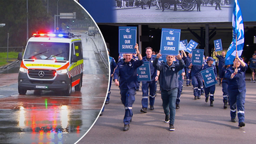
[[[28,69],[28,75],[34,79],[53,79],[55,77],[55,70],[33,70]]]

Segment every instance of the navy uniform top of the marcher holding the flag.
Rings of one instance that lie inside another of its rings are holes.
[[[238,91],[242,91],[245,89],[245,71],[247,70],[248,66],[245,64],[245,67],[238,67],[238,74],[235,74],[233,79],[230,79],[231,74],[235,72],[233,65],[228,67],[225,72],[225,77],[228,80],[228,89],[238,89]]]

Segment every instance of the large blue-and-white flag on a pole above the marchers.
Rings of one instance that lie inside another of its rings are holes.
[[[238,0],[235,0],[233,16],[232,16],[232,26],[233,26],[233,40],[228,48],[227,55],[225,57],[225,65],[233,65],[233,60],[236,55],[236,47],[238,48],[238,56],[242,55],[242,49],[245,42],[245,30],[242,21],[242,11],[240,9]]]

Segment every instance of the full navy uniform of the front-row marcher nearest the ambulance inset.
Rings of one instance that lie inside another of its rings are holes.
[[[121,101],[124,104],[124,124],[129,124],[132,119],[132,104],[135,101],[136,82],[137,82],[137,68],[143,64],[142,60],[131,60],[124,62],[119,60],[117,68],[114,71],[114,79],[119,78],[119,89],[121,94]]]

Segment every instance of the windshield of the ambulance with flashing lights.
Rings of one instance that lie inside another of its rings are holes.
[[[24,59],[69,60],[69,43],[29,42]]]

